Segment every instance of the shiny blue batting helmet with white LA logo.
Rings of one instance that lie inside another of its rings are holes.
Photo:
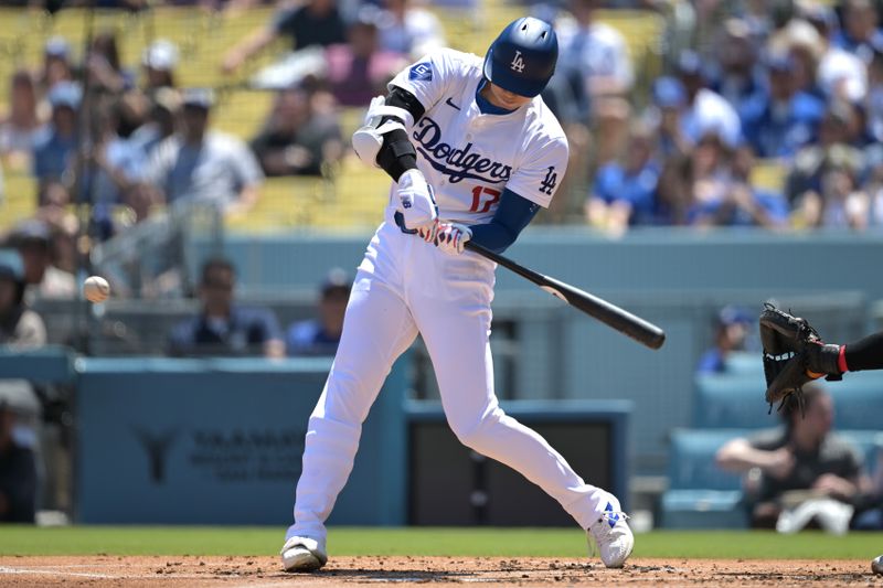
[[[519,96],[538,96],[558,58],[558,39],[547,22],[524,17],[503,29],[485,56],[485,77]]]

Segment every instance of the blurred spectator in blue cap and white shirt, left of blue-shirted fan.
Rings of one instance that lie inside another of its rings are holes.
[[[681,130],[687,140],[696,145],[713,133],[727,148],[736,147],[742,140],[738,115],[720,94],[706,87],[699,54],[693,51],[681,53],[678,74],[687,93],[687,106],[681,114]]]

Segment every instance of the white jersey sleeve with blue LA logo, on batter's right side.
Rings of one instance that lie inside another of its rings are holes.
[[[531,146],[506,188],[547,209],[567,171],[567,139],[563,136]]]

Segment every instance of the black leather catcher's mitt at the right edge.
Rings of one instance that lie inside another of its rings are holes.
[[[836,360],[840,348],[825,345],[806,319],[794,317],[768,302],[760,312],[760,343],[764,345],[766,402],[770,409],[775,403],[780,403],[780,409],[791,394],[796,394],[800,403],[807,382],[825,375],[828,379],[840,378]]]

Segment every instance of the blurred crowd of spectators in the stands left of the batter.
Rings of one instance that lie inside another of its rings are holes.
[[[95,34],[79,57],[53,36],[41,64],[13,74],[2,169],[35,179],[38,216],[67,236],[104,240],[179,202],[247,214],[265,177],[327,175],[344,153],[340,109],[364,106],[413,55],[443,44],[437,19],[407,1],[361,7],[351,19],[334,0],[280,6],[266,26],[232,39],[214,64],[231,79],[279,36],[291,40],[301,72],[273,77],[272,108],[251,137],[213,128],[212,88],[179,87],[174,43],[156,40],[130,67],[114,31]],[[68,213],[77,203],[92,206],[88,226]]]

